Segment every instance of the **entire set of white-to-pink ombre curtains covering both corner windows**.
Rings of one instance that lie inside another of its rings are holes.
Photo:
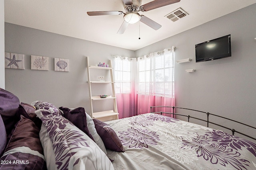
[[[149,113],[150,106],[175,106],[174,49],[138,59],[114,56],[119,118]],[[172,108],[153,111],[172,113]]]

